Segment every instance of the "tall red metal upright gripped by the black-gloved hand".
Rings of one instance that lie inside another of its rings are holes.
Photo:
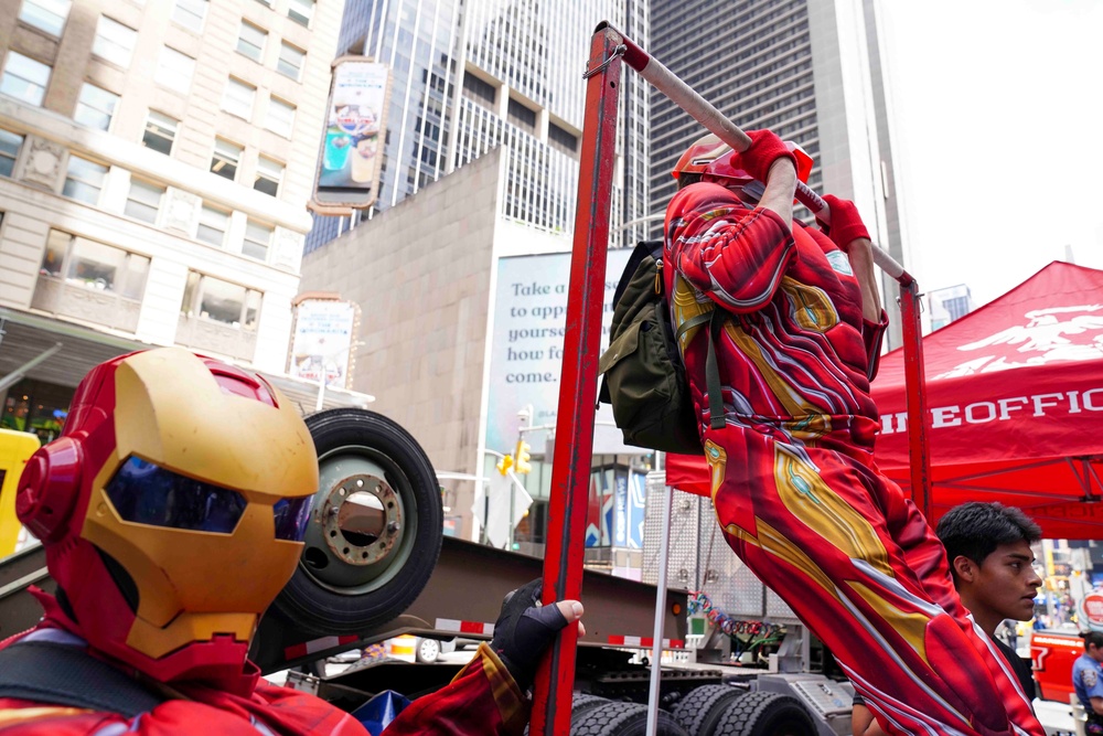
[[[544,557],[544,604],[578,599],[582,591],[582,540],[589,505],[593,450],[593,407],[598,395],[601,308],[617,143],[621,35],[599,28],[590,42],[586,116],[578,173],[575,242],[567,296],[559,408],[552,469],[548,544]],[[540,663],[533,695],[529,733],[570,732],[575,647],[578,632],[564,629]]]

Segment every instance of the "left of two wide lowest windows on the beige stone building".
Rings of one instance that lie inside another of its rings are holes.
[[[64,274],[69,284],[140,301],[149,276],[149,258],[51,230],[39,273],[54,278]]]

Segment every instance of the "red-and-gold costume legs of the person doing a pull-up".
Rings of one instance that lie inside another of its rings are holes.
[[[707,436],[728,544],[831,648],[890,733],[1043,733],[899,488],[837,451],[730,425]]]

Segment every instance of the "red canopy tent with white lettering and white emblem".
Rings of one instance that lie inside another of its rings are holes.
[[[934,516],[1017,505],[1048,537],[1103,538],[1103,271],[1054,262],[923,339]],[[876,459],[908,490],[903,355],[881,359]],[[667,483],[708,493],[697,457]]]

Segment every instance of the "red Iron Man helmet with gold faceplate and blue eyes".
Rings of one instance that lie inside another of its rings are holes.
[[[313,440],[264,378],[179,348],[96,366],[20,479],[78,633],[169,682],[242,673],[295,572]]]

